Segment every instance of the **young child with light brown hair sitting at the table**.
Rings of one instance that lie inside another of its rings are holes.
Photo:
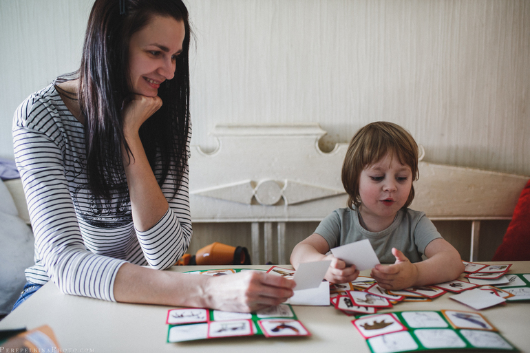
[[[326,279],[346,283],[359,270],[326,255],[331,248],[369,239],[381,264],[371,276],[385,289],[438,284],[464,271],[458,251],[446,242],[425,213],[407,208],[418,179],[418,145],[392,122],[372,122],[353,136],[342,166],[348,207],[339,208],[299,242],[290,255],[301,262],[331,260]],[[424,254],[427,259],[421,261]]]

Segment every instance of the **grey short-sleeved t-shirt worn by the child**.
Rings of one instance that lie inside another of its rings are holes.
[[[421,261],[427,244],[442,236],[425,213],[401,209],[392,224],[381,232],[370,232],[359,223],[357,209],[339,208],[326,216],[315,230],[330,249],[368,239],[381,264],[394,264],[392,248],[401,250],[411,262]]]

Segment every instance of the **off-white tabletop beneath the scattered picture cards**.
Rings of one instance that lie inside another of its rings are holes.
[[[493,263],[490,263],[493,264]],[[234,266],[176,266],[175,271],[230,268]],[[237,266],[262,268],[270,266]],[[288,266],[285,266],[288,267]],[[516,261],[510,273],[530,273],[530,261]],[[369,275],[369,271],[361,272]],[[428,303],[399,303],[388,311],[473,309],[449,299],[451,293]],[[352,317],[331,306],[294,306],[310,337],[236,337],[166,343],[168,306],[110,303],[98,299],[63,295],[49,283],[0,321],[0,329],[50,325],[65,352],[370,352],[355,330]],[[530,352],[530,301],[510,302],[480,313],[521,352]],[[440,352],[440,351],[437,351]],[[450,352],[459,352],[451,350]],[[469,350],[462,352],[471,352]],[[476,352],[476,351],[474,351]]]

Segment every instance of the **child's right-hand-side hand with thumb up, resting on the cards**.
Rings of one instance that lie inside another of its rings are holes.
[[[392,248],[392,255],[396,257],[393,265],[376,265],[370,275],[385,289],[401,290],[414,286],[418,278],[416,266],[396,248]]]

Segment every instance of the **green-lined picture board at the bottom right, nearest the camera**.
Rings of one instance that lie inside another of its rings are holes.
[[[456,310],[403,311],[352,321],[373,353],[441,349],[516,350],[483,315]]]

